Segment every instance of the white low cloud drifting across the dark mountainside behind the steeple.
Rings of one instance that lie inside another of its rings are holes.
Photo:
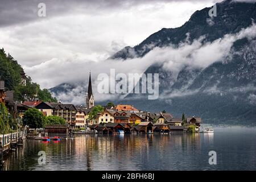
[[[189,35],[189,34],[188,34]],[[177,77],[177,74],[184,67],[188,67],[191,69],[207,68],[210,64],[215,63],[216,61],[223,61],[225,57],[230,56],[230,50],[233,46],[233,43],[238,39],[252,39],[256,37],[256,26],[253,23],[250,27],[242,29],[237,34],[228,34],[223,38],[214,40],[213,42],[203,43],[205,36],[201,36],[199,39],[193,40],[192,43],[184,40],[184,43],[180,43],[179,47],[174,47],[172,45],[159,48],[155,47],[152,51],[148,52],[143,57],[136,57],[134,59],[126,59],[126,60],[106,60],[99,62],[89,62],[89,63],[81,63],[80,61],[76,61],[77,65],[76,71],[77,73],[83,72],[84,77],[88,76],[89,70],[92,70],[93,74],[93,88],[94,92],[97,92],[97,84],[99,81],[96,80],[97,75],[99,73],[107,73],[110,75],[110,69],[115,69],[115,74],[117,73],[143,73],[148,67],[152,64],[159,63],[163,64],[163,68],[174,73],[174,77]],[[207,55],[207,56],[206,56]],[[74,63],[74,62],[72,62]],[[61,65],[58,61],[54,63],[51,61],[51,64],[55,64],[55,66],[48,65],[44,63],[44,68],[48,67],[56,67],[56,65]],[[87,67],[82,67],[82,64],[86,64]],[[42,66],[40,66],[42,69]],[[94,69],[97,68],[97,69]],[[64,74],[61,75],[72,75],[71,70],[67,67],[67,65],[63,65],[61,70],[65,69]],[[85,71],[86,70],[86,71]],[[71,76],[72,77],[72,76]],[[81,77],[77,77],[77,81]],[[55,78],[56,79],[56,78]],[[71,79],[71,80],[69,80]],[[67,81],[72,81],[74,78],[67,78]],[[47,81],[47,80],[46,80]],[[248,85],[244,88],[233,88],[232,90],[219,90],[217,87],[218,83],[211,88],[205,89],[205,93],[208,94],[225,94],[225,92],[247,92],[251,90],[251,85]],[[255,89],[255,88],[254,88]],[[163,92],[160,98],[174,98],[180,96],[191,95],[199,92],[200,88],[197,90],[187,90],[186,86],[183,89],[179,90],[171,90],[171,92]],[[242,91],[241,91],[242,90]],[[113,100],[114,98],[119,98],[120,95],[117,94],[98,94],[96,93],[96,100],[104,101],[104,100]],[[99,99],[100,98],[100,99]],[[80,98],[81,100],[81,98]]]

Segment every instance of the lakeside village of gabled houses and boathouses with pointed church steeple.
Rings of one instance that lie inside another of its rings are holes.
[[[26,83],[25,83],[26,84]],[[44,116],[56,116],[65,119],[65,125],[47,125],[46,133],[163,133],[198,132],[201,124],[200,117],[174,118],[171,113],[160,111],[151,113],[142,111],[133,105],[112,102],[106,106],[94,105],[92,81],[89,76],[88,92],[85,105],[63,104],[59,102],[45,102],[37,98],[24,102],[14,102],[11,91],[5,92],[4,82],[1,81],[1,102],[5,103],[10,113],[18,115],[19,122],[28,129],[24,114],[29,109],[37,109]],[[96,112],[96,113],[95,113]],[[95,113],[92,117],[92,113]],[[26,131],[27,133],[27,131]]]

